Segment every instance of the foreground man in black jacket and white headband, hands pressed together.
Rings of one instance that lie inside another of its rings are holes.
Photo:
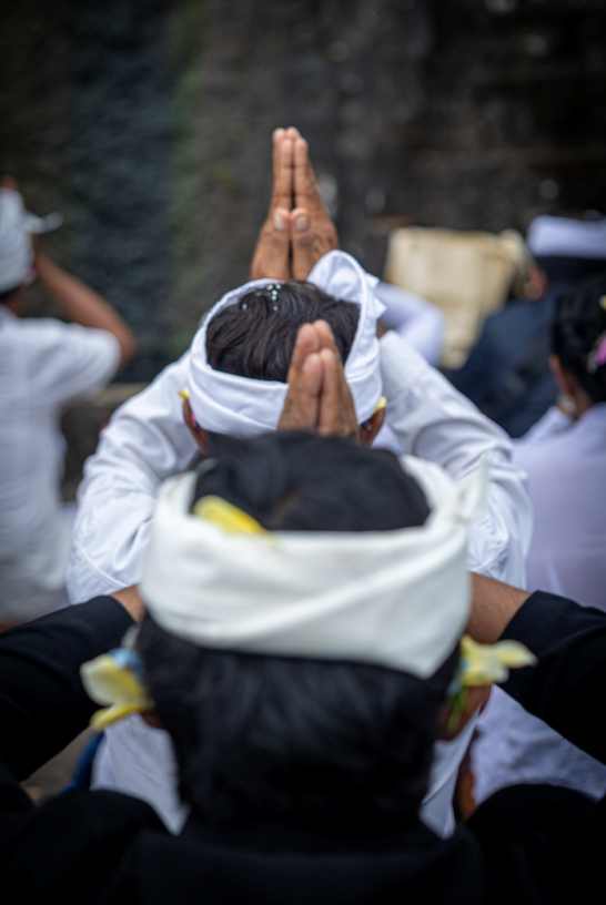
[[[334,352],[312,355],[290,417],[352,427]],[[604,803],[517,786],[447,840],[418,818],[436,738],[489,681],[606,757],[606,616],[469,581],[485,491],[336,437],[211,438],[160,489],[147,616],[125,590],[0,635],[6,901],[602,902]],[[19,787],[137,711],[174,746],[178,836],[131,795]]]

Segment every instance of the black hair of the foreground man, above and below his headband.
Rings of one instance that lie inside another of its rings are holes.
[[[213,438],[218,494],[269,528],[422,525],[416,481],[385,450],[273,434]],[[208,467],[208,466],[206,466]],[[363,663],[203,649],[148,616],[139,649],[181,796],[205,822],[281,817],[372,832],[418,812],[457,652],[427,680]]]

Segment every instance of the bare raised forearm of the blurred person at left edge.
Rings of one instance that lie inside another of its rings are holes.
[[[37,256],[36,270],[41,286],[52,295],[70,321],[83,327],[108,331],[115,336],[120,343],[123,366],[132,357],[137,340],[115,308],[99,293],[43,254]]]

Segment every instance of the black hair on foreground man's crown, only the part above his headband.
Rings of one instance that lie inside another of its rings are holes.
[[[386,449],[340,437],[279,431],[241,440],[210,435],[211,470],[195,499],[216,495],[270,531],[390,531],[423,525],[418,484]]]

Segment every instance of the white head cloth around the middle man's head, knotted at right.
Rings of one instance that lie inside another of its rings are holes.
[[[206,359],[206,327],[218,312],[235,305],[242,296],[275,283],[253,279],[229,292],[214,305],[192,342],[190,358],[190,405],[200,426],[232,437],[255,437],[275,430],[286,398],[287,385],[277,380],[254,380],[214,370]],[[360,305],[360,318],[345,376],[354,398],[357,420],[373,414],[381,397],[381,370],[376,322],[385,311],[374,296],[376,279],[345,252],[329,252],[307,277],[324,292]]]

